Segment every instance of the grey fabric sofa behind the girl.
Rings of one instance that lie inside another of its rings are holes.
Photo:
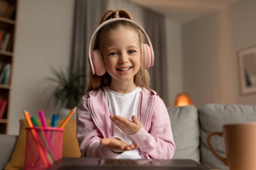
[[[222,124],[256,121],[256,106],[235,104],[206,104],[167,108],[176,151],[173,159],[193,159],[209,169],[228,170],[209,150],[206,137],[211,131],[220,131]],[[0,170],[9,161],[17,136],[0,135]],[[216,151],[225,156],[223,141],[212,137]]]

